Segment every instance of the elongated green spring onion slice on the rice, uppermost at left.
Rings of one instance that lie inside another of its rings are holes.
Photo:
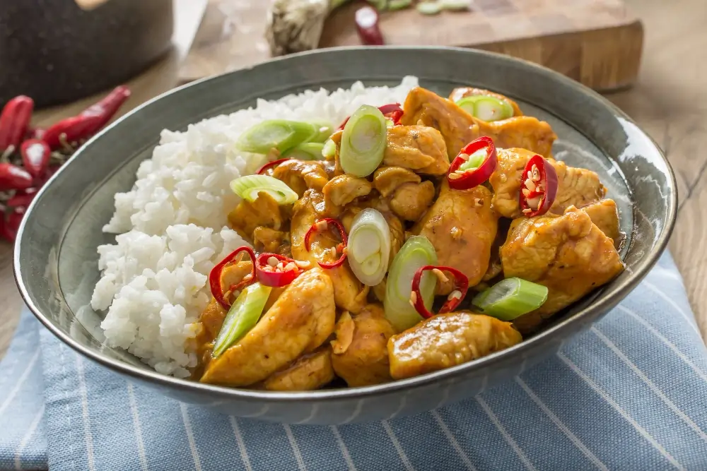
[[[317,134],[311,123],[269,119],[246,129],[235,143],[244,152],[267,154],[276,148],[281,153],[294,146],[310,141]]]

